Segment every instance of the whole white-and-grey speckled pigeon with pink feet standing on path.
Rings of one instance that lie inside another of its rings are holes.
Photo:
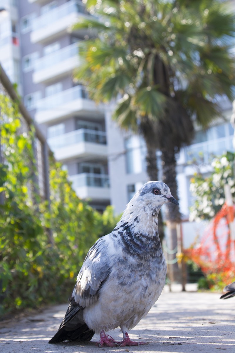
[[[66,315],[49,343],[89,341],[97,333],[99,347],[147,344],[131,341],[128,331],[147,315],[165,285],[157,216],[167,202],[179,205],[161,181],[149,181],[138,190],[115,229],[88,251]],[[107,335],[118,327],[121,342]]]

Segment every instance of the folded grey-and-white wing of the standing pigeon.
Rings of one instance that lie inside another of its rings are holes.
[[[70,305],[60,328],[66,325],[85,307],[97,301],[101,286],[111,272],[108,242],[100,238],[89,250],[70,296]]]

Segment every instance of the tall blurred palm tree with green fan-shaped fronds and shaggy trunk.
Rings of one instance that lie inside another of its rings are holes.
[[[113,118],[144,137],[147,173],[157,179],[156,149],[163,181],[177,197],[176,154],[221,116],[217,98],[233,99],[234,14],[215,0],[87,0],[98,17],[81,20],[77,79],[95,101],[121,98]],[[86,37],[86,38],[87,38]],[[180,213],[168,205],[171,248]]]

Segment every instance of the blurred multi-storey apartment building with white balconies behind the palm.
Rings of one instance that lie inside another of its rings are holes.
[[[117,128],[111,106],[96,105],[73,80],[79,65],[77,43],[86,33],[70,28],[86,16],[80,0],[0,0],[0,62],[17,83],[56,159],[68,170],[77,194],[98,210],[112,204],[120,213],[148,181],[145,146],[139,136]],[[199,163],[200,170],[209,173],[214,155],[233,151],[232,106],[221,100],[221,107],[225,120],[221,117],[207,131],[198,130],[193,144],[179,153],[179,202],[185,220],[195,166]],[[187,222],[184,227],[189,227]],[[193,238],[195,231],[191,234]]]

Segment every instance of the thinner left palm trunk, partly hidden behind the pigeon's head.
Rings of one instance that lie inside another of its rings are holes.
[[[149,146],[148,144],[147,144],[146,164],[147,164],[147,173],[148,173],[149,179],[158,180],[156,149],[152,146]],[[163,229],[161,211],[158,214],[158,232],[159,232],[160,241],[162,242],[164,238],[164,229]]]

